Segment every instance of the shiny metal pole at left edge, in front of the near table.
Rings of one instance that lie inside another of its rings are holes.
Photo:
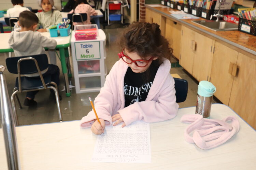
[[[2,129],[5,143],[6,158],[9,170],[19,170],[19,154],[15,132],[15,120],[8,95],[4,66],[0,66],[0,106],[2,115]]]

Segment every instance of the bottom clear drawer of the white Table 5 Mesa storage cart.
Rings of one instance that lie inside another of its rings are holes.
[[[79,78],[80,89],[100,88],[100,76]]]

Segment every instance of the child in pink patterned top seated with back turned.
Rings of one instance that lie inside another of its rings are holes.
[[[97,15],[97,12],[88,4],[86,0],[76,0],[74,10],[69,12],[71,13],[86,13],[87,20],[83,22],[74,22],[73,25],[87,25],[91,24],[91,17]]]

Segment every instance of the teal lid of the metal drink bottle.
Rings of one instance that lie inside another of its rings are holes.
[[[200,81],[197,94],[203,97],[211,97],[216,91],[216,87],[208,81]]]

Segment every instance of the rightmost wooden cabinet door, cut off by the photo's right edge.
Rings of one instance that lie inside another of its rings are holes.
[[[256,129],[256,60],[239,53],[236,65],[229,106]]]

